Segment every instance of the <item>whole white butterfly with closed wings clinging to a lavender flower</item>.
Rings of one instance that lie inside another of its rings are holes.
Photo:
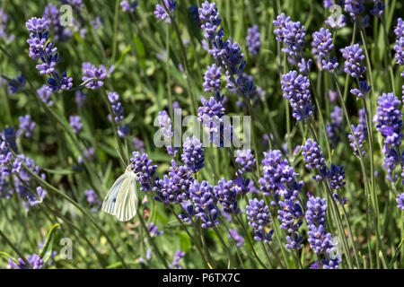
[[[125,173],[110,187],[102,203],[102,211],[115,215],[120,222],[130,221],[137,212],[136,179],[137,174],[128,166]]]

